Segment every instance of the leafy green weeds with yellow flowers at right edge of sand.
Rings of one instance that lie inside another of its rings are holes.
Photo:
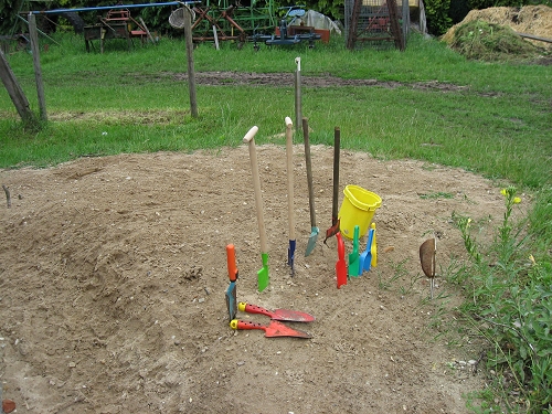
[[[467,300],[460,307],[465,321],[489,341],[487,367],[496,373],[495,390],[505,404],[497,407],[490,399],[482,407],[486,412],[550,413],[552,266],[550,256],[531,254],[529,221],[512,221],[512,211],[521,202],[517,189],[508,187],[501,193],[502,222],[487,248],[474,237],[469,217],[453,216],[469,257],[454,282],[466,289]]]

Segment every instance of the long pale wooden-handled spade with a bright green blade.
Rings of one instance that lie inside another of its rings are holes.
[[[265,222],[263,219],[263,199],[261,198],[261,180],[258,177],[257,152],[255,150],[255,134],[258,127],[252,127],[243,141],[250,147],[251,170],[253,176],[253,188],[255,190],[255,210],[257,211],[258,236],[261,238],[261,259],[263,261],[263,268],[257,272],[257,288],[263,291],[268,286],[268,248],[266,244]]]

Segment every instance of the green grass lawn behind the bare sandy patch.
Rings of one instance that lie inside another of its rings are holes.
[[[539,188],[550,176],[552,83],[546,67],[467,62],[421,38],[413,38],[404,53],[349,52],[338,40],[314,50],[300,44],[262,46],[259,52],[251,44],[237,50],[225,43],[220,51],[201,44],[194,51],[198,72],[231,71],[235,77],[241,72],[284,72],[289,85],[199,85],[200,117],[193,119],[188,84],[174,76],[185,73],[182,41],[163,39],[158,46],[137,45],[130,52],[125,41],[112,41],[104,54],[86,53],[82,38],[65,35],[60,41],[63,47],[51,45],[41,54],[47,128],[30,139],[0,91],[1,167],[52,164],[98,150],[235,146],[252,125],[259,126],[259,142],[274,141],[283,119],[294,114],[294,60],[299,55],[304,76],[331,74],[403,85],[304,87],[302,113],[314,128],[314,144],[330,145],[333,127],[340,126],[344,148],[381,158],[426,159],[530,188]],[[9,56],[36,108],[31,57],[24,52]],[[435,81],[463,88],[443,92],[415,84]],[[24,148],[21,141],[26,141]]]

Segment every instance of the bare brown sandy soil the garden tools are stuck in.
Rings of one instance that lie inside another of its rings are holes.
[[[305,257],[310,219],[298,145],[291,277],[286,151],[257,147],[270,254],[262,293],[246,146],[0,171],[12,198],[10,209],[0,204],[3,397],[18,413],[43,414],[466,413],[463,395],[485,386],[481,348],[461,336],[447,344],[450,337],[439,335],[439,321],[454,316],[439,315],[439,304],[455,299],[427,300],[418,247],[435,232],[437,264],[448,266],[463,254],[453,211],[499,219],[499,189],[458,169],[341,151],[339,204],[347,184],[383,204],[374,216],[378,267],[337,289],[336,237],[322,243],[333,150],[314,146],[311,153],[320,235]],[[229,243],[237,299],[314,315],[310,323],[286,322],[311,339],[229,327]],[[437,295],[453,290],[437,277]]]

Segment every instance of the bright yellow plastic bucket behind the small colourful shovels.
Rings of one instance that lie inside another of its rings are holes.
[[[339,209],[339,230],[343,236],[352,240],[354,226],[358,225],[362,237],[368,232],[375,209],[381,205],[381,198],[359,185],[347,185],[343,194]]]

